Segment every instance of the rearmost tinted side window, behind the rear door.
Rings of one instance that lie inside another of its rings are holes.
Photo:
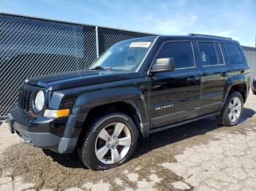
[[[243,56],[237,44],[225,43],[225,48],[230,63],[244,63]]]

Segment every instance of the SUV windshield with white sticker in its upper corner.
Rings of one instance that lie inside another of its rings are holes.
[[[133,39],[110,47],[89,69],[135,71],[143,60],[154,38]]]

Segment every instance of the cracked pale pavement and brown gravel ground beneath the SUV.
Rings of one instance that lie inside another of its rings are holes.
[[[78,156],[30,147],[0,125],[0,190],[256,190],[256,100],[236,127],[200,120],[139,141],[128,163],[86,169]]]

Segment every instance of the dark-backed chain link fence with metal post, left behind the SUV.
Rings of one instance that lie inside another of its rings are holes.
[[[87,69],[134,31],[0,13],[0,117],[7,115],[27,77]]]

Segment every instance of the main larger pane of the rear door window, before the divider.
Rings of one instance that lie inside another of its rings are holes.
[[[217,65],[217,51],[212,42],[198,42],[203,66]]]

